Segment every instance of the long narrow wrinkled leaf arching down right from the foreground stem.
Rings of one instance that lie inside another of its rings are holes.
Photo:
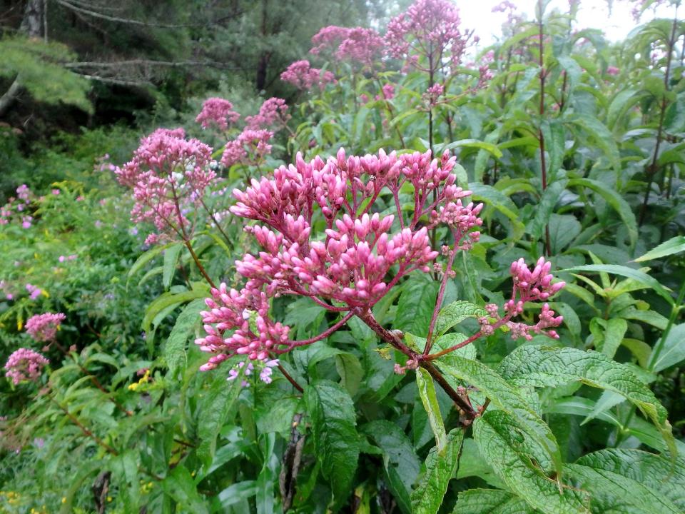
[[[478,388],[493,405],[519,419],[529,436],[544,448],[552,460],[557,475],[562,474],[562,456],[557,440],[534,408],[524,400],[522,395],[495,371],[478,361],[460,356],[452,356],[453,366],[437,359],[435,363],[447,375],[465,381]]]

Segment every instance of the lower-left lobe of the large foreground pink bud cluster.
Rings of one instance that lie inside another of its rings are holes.
[[[212,298],[205,300],[210,310],[200,313],[206,336],[195,341],[202,351],[214,353],[201,366],[202,371],[214,369],[235,355],[266,361],[270,351],[287,344],[290,328],[269,318],[265,293],[250,288],[229,290],[225,283],[212,288],[211,293]]]

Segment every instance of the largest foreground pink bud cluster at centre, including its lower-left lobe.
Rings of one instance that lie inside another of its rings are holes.
[[[438,252],[430,246],[427,227],[419,226],[422,218],[447,220],[456,243],[480,224],[471,215],[482,206],[470,205],[469,214],[458,215],[462,218],[447,216],[464,211],[461,199],[470,195],[455,185],[455,163],[447,153],[438,161],[430,152],[347,157],[340,149],[328,161],[309,162],[298,154],[294,166],[280,166],[273,177],[233,191],[238,203],[230,211],[263,223],[245,228],[261,251],[236,261],[247,279],[243,290],[228,291],[222,284],[206,301],[206,336],[196,343],[215,355],[203,369],[236,354],[265,361],[271,353],[300,346],[288,340],[287,326],[268,318],[269,298],[307,296],[332,311],[361,312],[407,273],[429,272]],[[405,220],[400,190],[407,188],[413,191],[414,211]],[[371,211],[384,190],[395,200],[396,215]],[[314,216],[325,220],[320,236],[313,233]],[[227,337],[230,330],[235,331]]]

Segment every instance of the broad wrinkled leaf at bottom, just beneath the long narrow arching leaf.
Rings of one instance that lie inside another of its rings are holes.
[[[532,457],[538,455],[531,455],[532,448],[516,418],[503,410],[488,410],[476,418],[473,437],[504,483],[533,508],[549,514],[589,514],[582,492],[566,486],[560,492],[554,479],[534,463]]]

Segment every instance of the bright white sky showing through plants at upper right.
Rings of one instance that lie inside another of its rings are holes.
[[[489,45],[495,41],[497,36],[501,36],[500,27],[507,19],[504,13],[494,13],[492,8],[500,3],[501,0],[457,0],[462,17],[462,25],[470,29],[475,29],[475,33],[480,36],[482,45]],[[519,12],[527,14],[528,20],[535,19],[536,0],[512,0],[519,8]],[[577,17],[577,28],[602,29],[607,38],[612,41],[619,41],[635,28],[637,25],[631,14],[632,4],[628,1],[614,0],[612,15],[609,16],[607,0],[580,0],[580,8]],[[547,7],[547,11],[557,8],[559,11],[569,10],[567,0],[552,0]],[[673,8],[670,6],[660,6],[657,14],[659,17],[672,18]],[[647,21],[654,16],[652,11],[646,11],[641,21]]]

